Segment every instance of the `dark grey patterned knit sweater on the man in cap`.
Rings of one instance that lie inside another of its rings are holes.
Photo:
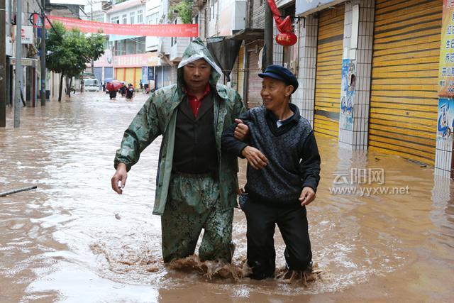
[[[246,191],[258,202],[289,204],[298,202],[301,189],[316,190],[320,180],[320,155],[309,121],[299,115],[299,109],[289,104],[294,116],[289,123],[277,128],[272,113],[265,107],[250,109],[240,119],[249,126],[249,141],[237,141],[233,132],[236,124],[223,133],[223,152],[241,155],[245,146],[258,148],[268,159],[268,165],[255,170],[248,165]]]

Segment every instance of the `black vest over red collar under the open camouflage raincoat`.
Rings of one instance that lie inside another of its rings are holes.
[[[197,119],[187,98],[179,104],[172,165],[174,172],[189,174],[217,172],[213,99],[211,92],[202,99]]]

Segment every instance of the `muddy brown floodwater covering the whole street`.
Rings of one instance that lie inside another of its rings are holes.
[[[8,109],[8,126],[0,129],[0,192],[33,184],[38,189],[0,197],[0,302],[448,302],[454,297],[450,180],[434,177],[432,167],[352,152],[320,136],[321,183],[308,219],[323,279],[308,287],[234,282],[165,267],[160,218],[152,215],[160,138],[131,170],[124,194],[110,188],[115,151],[145,98],[111,102],[102,93],[75,94],[44,108],[22,109],[18,129]],[[244,184],[245,162],[240,164]],[[371,184],[361,184],[362,172],[377,171],[384,180],[369,176]],[[333,192],[350,183],[356,194]],[[402,190],[360,197],[358,191],[367,187]],[[245,258],[245,231],[243,213],[236,209],[234,263]],[[275,242],[282,267],[278,231]]]

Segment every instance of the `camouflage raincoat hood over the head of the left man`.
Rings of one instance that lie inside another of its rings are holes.
[[[184,50],[183,57],[181,62],[179,62],[178,65],[178,71],[177,71],[177,81],[178,81],[178,87],[182,87],[184,84],[184,78],[183,78],[183,67],[184,65],[187,65],[190,62],[194,62],[199,59],[204,59],[206,62],[211,65],[211,75],[209,79],[209,84],[211,87],[216,87],[216,83],[218,82],[219,77],[221,77],[222,71],[221,68],[216,65],[216,62],[214,61],[214,57],[211,55],[210,51],[202,40],[200,38],[196,38],[192,40],[191,43],[189,43],[188,47],[186,50]]]

